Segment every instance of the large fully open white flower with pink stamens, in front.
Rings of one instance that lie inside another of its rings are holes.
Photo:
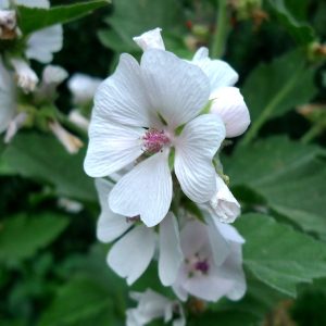
[[[92,177],[108,176],[143,153],[150,156],[113,188],[114,212],[140,215],[147,226],[164,218],[172,201],[172,147],[184,193],[199,203],[212,198],[216,190],[212,158],[225,127],[217,115],[198,116],[209,96],[210,82],[202,71],[171,52],[147,50],[140,65],[133,57],[121,55],[115,73],[95,98],[85,171]]]

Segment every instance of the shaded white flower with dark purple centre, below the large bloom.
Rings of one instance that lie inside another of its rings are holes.
[[[189,221],[183,228],[185,261],[173,289],[184,301],[188,294],[214,302],[224,296],[238,300],[246,292],[243,239],[230,225],[211,217],[206,223]]]

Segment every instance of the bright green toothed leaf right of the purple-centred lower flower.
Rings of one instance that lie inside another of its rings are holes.
[[[325,243],[262,214],[237,222],[246,239],[243,264],[272,288],[296,297],[296,286],[326,276]]]

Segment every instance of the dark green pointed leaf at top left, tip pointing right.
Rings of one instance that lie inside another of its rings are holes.
[[[24,35],[55,25],[68,23],[108,5],[109,0],[92,0],[50,9],[18,7],[20,28]]]

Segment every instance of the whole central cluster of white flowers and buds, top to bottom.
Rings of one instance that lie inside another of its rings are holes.
[[[183,302],[239,300],[244,239],[225,223],[240,204],[216,168],[224,139],[250,123],[233,87],[238,75],[204,48],[192,61],[168,52],[160,28],[134,40],[143,50],[140,63],[122,54],[98,87],[85,159],[86,173],[98,178],[98,238],[115,241],[106,262],[131,285],[158,260],[161,284]],[[135,299],[127,325],[172,319],[168,299],[150,290]],[[181,318],[173,325],[184,325],[176,306]]]

